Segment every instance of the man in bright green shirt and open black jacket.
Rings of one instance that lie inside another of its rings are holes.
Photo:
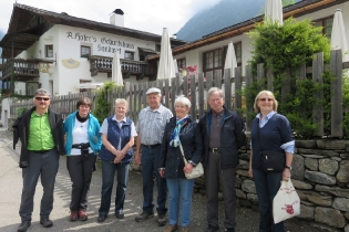
[[[34,106],[13,124],[13,149],[21,140],[19,166],[22,168],[23,189],[19,214],[19,232],[30,226],[33,198],[38,179],[43,187],[40,205],[40,223],[44,228],[53,225],[50,213],[53,209],[53,190],[59,169],[59,155],[64,155],[63,120],[60,114],[50,110],[50,92],[39,88],[34,94]]]

